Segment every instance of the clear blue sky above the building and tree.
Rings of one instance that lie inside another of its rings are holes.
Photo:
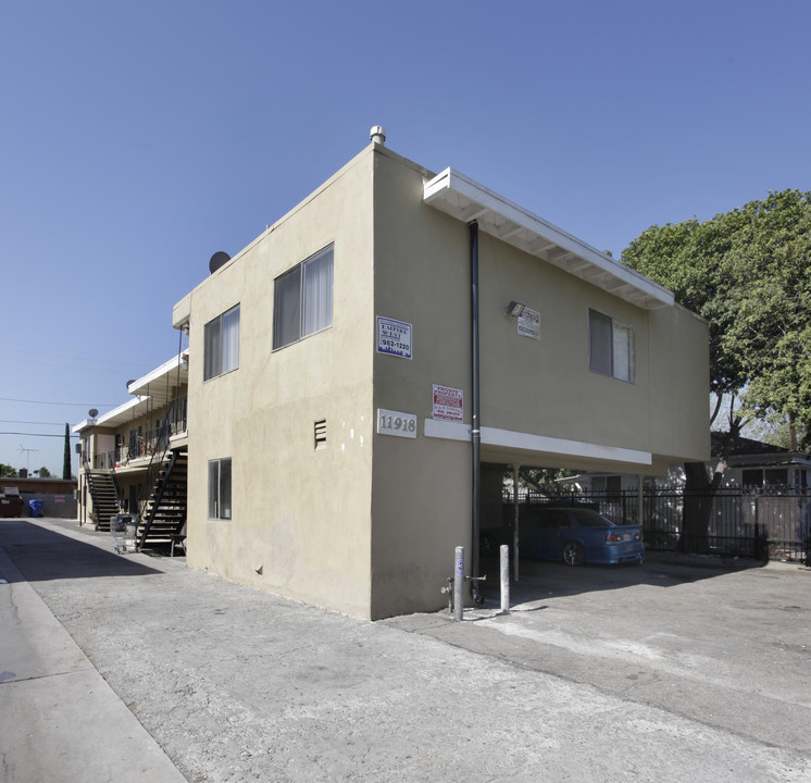
[[[61,475],[211,256],[373,125],[616,258],[811,190],[809,29],[808,0],[2,0],[0,462]]]

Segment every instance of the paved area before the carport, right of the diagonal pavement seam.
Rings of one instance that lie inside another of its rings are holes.
[[[483,571],[498,575],[492,562]],[[489,568],[488,568],[489,567]],[[522,560],[512,608],[386,621],[754,742],[811,750],[811,569],[649,552],[642,566]]]

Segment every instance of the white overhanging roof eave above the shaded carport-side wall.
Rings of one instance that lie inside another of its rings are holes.
[[[637,307],[674,304],[663,286],[452,169],[425,183],[423,200]]]

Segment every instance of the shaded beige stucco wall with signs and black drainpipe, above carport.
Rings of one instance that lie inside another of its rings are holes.
[[[374,405],[420,423],[414,440],[374,439],[373,617],[440,608],[454,547],[470,559],[471,445],[423,435],[433,384],[463,390],[471,423],[470,234],[423,202],[426,175],[377,156],[375,314],[413,325],[414,355],[375,356]],[[517,335],[513,299],[540,312],[540,340]],[[634,326],[634,383],[589,371],[589,308]],[[686,311],[642,310],[481,233],[479,336],[482,426],[585,445],[581,456],[485,446],[483,459],[652,472],[707,456],[707,326]],[[650,458],[596,460],[591,445]]]

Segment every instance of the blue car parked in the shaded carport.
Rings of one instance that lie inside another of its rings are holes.
[[[645,542],[639,525],[617,525],[586,508],[539,508],[519,527],[522,557],[583,563],[641,563]]]

